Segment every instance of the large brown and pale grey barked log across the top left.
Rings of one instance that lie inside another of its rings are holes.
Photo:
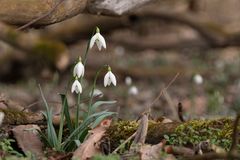
[[[120,16],[152,0],[0,0],[0,21],[24,25],[43,15],[34,23],[45,26],[64,21],[80,13]]]

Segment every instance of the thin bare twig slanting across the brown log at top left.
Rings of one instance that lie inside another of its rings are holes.
[[[23,30],[23,29],[26,29],[27,27],[31,26],[32,24],[36,23],[37,21],[43,19],[43,18],[46,18],[47,16],[49,16],[50,14],[52,14],[55,9],[61,4],[63,3],[64,0],[60,0],[51,10],[49,10],[47,13],[41,15],[40,17],[37,17],[33,20],[31,20],[30,22],[28,22],[27,24],[17,28],[16,30],[19,31],[19,30]]]

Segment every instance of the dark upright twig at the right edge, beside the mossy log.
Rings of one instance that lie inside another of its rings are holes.
[[[231,148],[230,148],[230,153],[231,152],[234,152],[237,150],[237,144],[238,144],[238,141],[239,141],[239,135],[238,135],[238,124],[239,124],[239,121],[240,121],[240,113],[237,115],[235,121],[234,121],[234,126],[233,126],[233,134],[232,134],[232,145],[231,145]]]

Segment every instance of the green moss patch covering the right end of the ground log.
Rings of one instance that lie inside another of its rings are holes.
[[[229,149],[233,131],[233,120],[222,118],[216,120],[191,120],[176,127],[174,133],[165,135],[165,139],[174,145],[194,145],[201,141]]]

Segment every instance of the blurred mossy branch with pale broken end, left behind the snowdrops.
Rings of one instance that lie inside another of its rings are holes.
[[[53,63],[60,70],[69,63],[68,50],[63,43],[41,37],[37,33],[22,33],[0,22],[0,40],[24,51],[28,58],[37,56],[38,60]]]

